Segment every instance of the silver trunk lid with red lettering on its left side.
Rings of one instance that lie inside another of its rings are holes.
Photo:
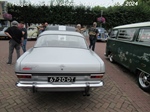
[[[33,73],[99,73],[94,53],[76,48],[35,48],[21,62],[21,70]]]

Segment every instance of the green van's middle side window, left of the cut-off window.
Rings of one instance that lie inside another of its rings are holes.
[[[132,40],[136,29],[120,29],[118,39]]]

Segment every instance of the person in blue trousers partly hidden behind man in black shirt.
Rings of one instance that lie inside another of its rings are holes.
[[[26,52],[26,44],[27,44],[27,29],[25,28],[25,23],[23,21],[20,22],[20,29],[23,34],[23,42],[22,42],[22,50]]]

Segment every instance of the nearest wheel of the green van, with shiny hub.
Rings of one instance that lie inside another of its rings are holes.
[[[138,84],[142,90],[149,92],[150,91],[150,74],[146,74],[140,71],[138,73]]]

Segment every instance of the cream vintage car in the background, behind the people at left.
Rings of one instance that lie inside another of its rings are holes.
[[[27,28],[27,39],[37,39],[39,30],[37,26],[30,26]]]

